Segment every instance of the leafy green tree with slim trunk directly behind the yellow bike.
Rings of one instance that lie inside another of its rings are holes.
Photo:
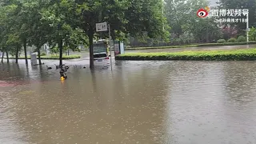
[[[62,66],[63,47],[69,46],[71,50],[77,50],[79,44],[85,42],[83,31],[74,27],[75,20],[74,1],[60,0],[49,2],[42,9],[41,22],[47,32],[47,40],[51,46],[58,46],[59,65]]]

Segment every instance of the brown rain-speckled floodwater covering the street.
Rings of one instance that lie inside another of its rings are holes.
[[[65,63],[0,64],[1,144],[256,143],[255,62]]]

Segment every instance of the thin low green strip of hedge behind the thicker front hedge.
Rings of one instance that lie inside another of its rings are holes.
[[[256,44],[256,41],[250,41],[248,44]],[[201,46],[235,46],[235,45],[247,45],[247,42],[225,42],[225,43],[203,43],[198,45],[186,45],[186,46],[154,46],[154,47],[134,47],[126,48],[126,50],[150,50],[150,49],[171,49],[171,48],[186,48],[186,47],[201,47]]]

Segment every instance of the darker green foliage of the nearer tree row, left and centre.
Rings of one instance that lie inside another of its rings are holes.
[[[17,62],[22,48],[27,58],[26,46],[36,47],[39,64],[44,44],[52,50],[58,47],[62,65],[64,50],[89,45],[93,67],[93,39],[107,36],[107,32],[96,34],[98,22],[110,24],[114,39],[142,34],[167,38],[162,0],[0,0],[0,5],[0,50],[15,53]]]

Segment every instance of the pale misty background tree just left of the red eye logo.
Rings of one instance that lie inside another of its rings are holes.
[[[198,18],[197,11],[208,6],[206,0],[165,0],[168,24],[173,43],[213,42],[221,36],[214,18]]]

